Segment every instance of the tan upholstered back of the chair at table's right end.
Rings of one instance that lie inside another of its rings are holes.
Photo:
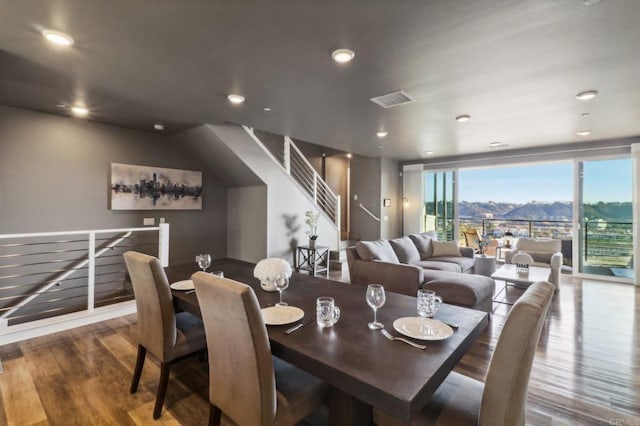
[[[485,379],[480,425],[524,425],[535,349],[555,286],[532,284],[511,308]]]

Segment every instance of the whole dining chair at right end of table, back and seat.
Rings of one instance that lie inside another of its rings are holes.
[[[484,383],[450,373],[411,424],[524,425],[531,366],[553,293],[549,282],[532,284],[507,316]],[[402,424],[379,410],[374,410],[374,421]]]

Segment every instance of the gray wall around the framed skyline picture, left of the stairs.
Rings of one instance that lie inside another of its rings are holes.
[[[203,171],[203,209],[111,211],[112,162]],[[0,233],[171,224],[170,262],[227,255],[227,188],[181,135],[164,136],[0,106]]]

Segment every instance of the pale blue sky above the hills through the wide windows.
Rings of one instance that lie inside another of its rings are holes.
[[[584,163],[584,201],[631,201],[631,160]],[[460,201],[527,203],[573,200],[573,163],[464,169]]]

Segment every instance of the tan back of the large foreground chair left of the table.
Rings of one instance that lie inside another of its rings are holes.
[[[209,401],[236,424],[272,424],[277,408],[273,361],[253,289],[203,272],[192,279],[207,335]]]

